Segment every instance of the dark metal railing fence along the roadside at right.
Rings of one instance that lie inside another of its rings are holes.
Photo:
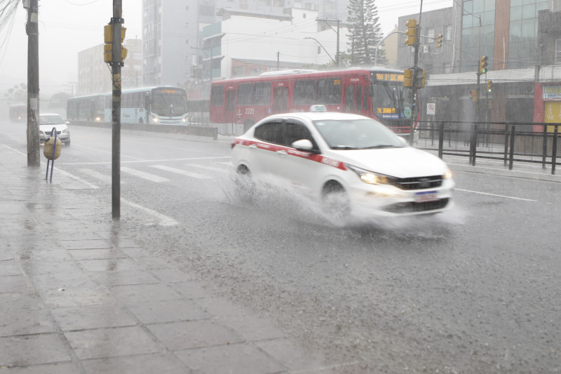
[[[466,156],[503,160],[512,170],[514,162],[541,163],[542,168],[560,165],[561,123],[506,123],[443,121],[419,123],[416,147],[438,150],[438,156]]]

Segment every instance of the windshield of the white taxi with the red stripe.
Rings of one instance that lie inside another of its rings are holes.
[[[396,134],[372,119],[326,119],[313,124],[331,149],[405,147]]]

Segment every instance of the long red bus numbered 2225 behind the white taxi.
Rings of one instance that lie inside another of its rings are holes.
[[[349,112],[377,119],[409,137],[416,119],[412,89],[403,86],[403,70],[384,68],[332,71],[286,70],[259,76],[213,81],[210,121],[255,122],[276,113],[308,112],[311,105],[328,112]]]

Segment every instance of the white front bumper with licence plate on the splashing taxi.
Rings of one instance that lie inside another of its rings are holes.
[[[453,206],[454,182],[444,180],[440,187],[405,191],[391,185],[351,187],[351,208],[360,215],[421,215],[440,213]]]

